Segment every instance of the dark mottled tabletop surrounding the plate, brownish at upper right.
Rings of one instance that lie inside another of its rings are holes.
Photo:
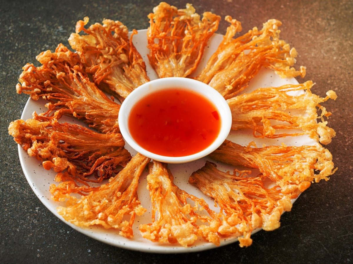
[[[170,1],[178,7],[187,1]],[[304,80],[313,80],[313,92],[329,89],[339,98],[324,104],[333,116],[329,125],[337,136],[327,147],[339,170],[328,182],[319,182],[299,197],[273,232],[253,235],[253,244],[238,243],[199,253],[147,254],[109,246],[71,229],[46,209],[23,175],[17,145],[7,134],[10,121],[19,119],[28,97],[16,94],[22,66],[35,56],[55,49],[77,20],[118,19],[131,30],[148,27],[146,15],[158,1],[2,1],[0,6],[1,83],[1,208],[0,259],[14,262],[117,263],[350,263],[353,262],[353,2],[352,1],[188,1],[198,13],[232,15],[244,30],[270,18],[282,21],[281,36],[298,53],[297,65],[306,65]],[[219,33],[225,33],[222,21]],[[299,80],[299,79],[298,79]],[[299,80],[301,81],[301,80]]]

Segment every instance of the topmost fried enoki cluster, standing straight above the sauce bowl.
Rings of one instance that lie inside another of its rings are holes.
[[[191,4],[178,10],[165,2],[154,7],[148,18],[148,58],[160,78],[187,77],[193,73],[220,21],[211,12],[203,13],[200,19]]]

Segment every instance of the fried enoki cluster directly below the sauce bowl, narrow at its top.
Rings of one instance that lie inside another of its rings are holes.
[[[215,215],[207,203],[196,196],[186,193],[173,183],[173,176],[166,164],[154,161],[149,164],[147,189],[152,202],[152,223],[139,226],[142,237],[160,243],[179,243],[187,247],[192,245],[198,236],[206,241],[219,245],[217,234],[219,220],[212,220],[197,211],[206,210]],[[195,203],[187,203],[190,199]],[[155,219],[156,213],[158,218]],[[197,221],[207,222],[201,224]]]

